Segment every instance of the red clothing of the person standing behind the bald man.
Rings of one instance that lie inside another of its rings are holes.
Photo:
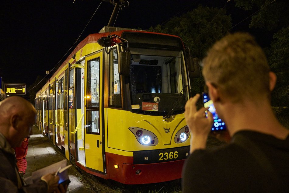
[[[30,135],[27,136],[23,142],[21,143],[20,147],[14,148],[15,150],[15,157],[17,160],[17,167],[18,167],[18,173],[20,177],[24,180],[24,174],[27,169],[27,160],[26,155],[28,151],[28,142],[29,142]]]

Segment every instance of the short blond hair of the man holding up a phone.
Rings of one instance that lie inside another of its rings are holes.
[[[203,60],[206,82],[218,87],[232,102],[266,94],[270,99],[269,65],[249,33],[234,33],[217,41]]]

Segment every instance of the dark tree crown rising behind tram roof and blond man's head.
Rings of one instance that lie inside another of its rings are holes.
[[[173,17],[164,25],[151,27],[149,31],[168,33],[179,36],[190,48],[193,57],[204,58],[207,50],[221,39],[232,27],[232,19],[226,15],[225,9],[209,8],[199,5],[196,9]],[[193,94],[200,93],[204,88],[203,77],[191,82]]]

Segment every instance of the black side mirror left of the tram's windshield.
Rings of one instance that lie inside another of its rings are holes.
[[[123,76],[130,75],[131,52],[127,48],[118,55],[118,73]]]

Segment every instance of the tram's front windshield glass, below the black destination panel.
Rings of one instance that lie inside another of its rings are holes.
[[[183,52],[158,51],[160,55],[153,55],[155,50],[146,52],[151,55],[131,54],[131,111],[164,115],[175,106],[172,114],[183,113],[187,99]]]

